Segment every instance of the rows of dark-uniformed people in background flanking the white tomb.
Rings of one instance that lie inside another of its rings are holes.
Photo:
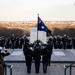
[[[12,34],[11,37],[0,37],[0,46],[5,49],[22,49],[24,44],[26,43],[26,35],[24,36],[15,36]],[[47,39],[50,41],[50,44],[52,45],[52,48],[54,49],[75,49],[75,37],[69,37],[67,35],[64,36],[50,36]]]

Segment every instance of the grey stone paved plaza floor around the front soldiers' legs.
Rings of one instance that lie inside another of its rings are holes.
[[[25,61],[22,49],[7,49],[10,52],[10,55],[5,57],[5,61],[14,61],[12,64],[12,75],[37,75],[35,73],[35,66],[32,63],[31,73],[27,73],[25,63],[15,63],[15,61]],[[53,49],[51,61],[75,61],[75,50],[73,49]],[[70,63],[51,63],[51,66],[48,66],[46,75],[64,75],[64,65],[70,65]],[[8,74],[10,75],[10,70],[7,68]],[[69,68],[66,70],[67,75],[69,75]],[[40,64],[39,75],[44,75],[42,63]],[[72,75],[75,75],[75,67],[72,68]]]

